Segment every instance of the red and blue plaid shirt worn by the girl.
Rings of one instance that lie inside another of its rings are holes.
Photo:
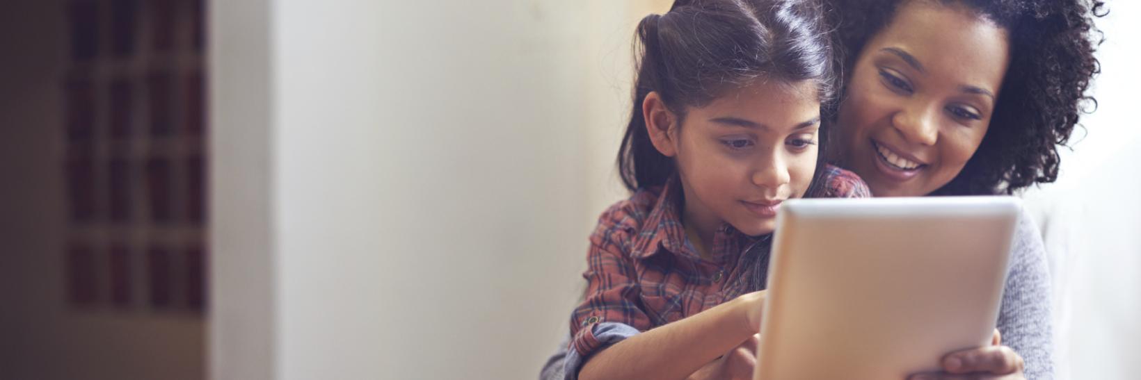
[[[832,165],[824,170],[825,187],[816,197],[871,197],[856,174]],[[599,217],[583,273],[586,297],[570,316],[570,347],[580,357],[602,348],[594,336],[598,323],[646,331],[750,290],[743,279],[752,269],[742,265],[742,253],[768,237],[748,237],[726,223],[713,236],[711,258],[702,258],[686,239],[673,183],[638,190]]]

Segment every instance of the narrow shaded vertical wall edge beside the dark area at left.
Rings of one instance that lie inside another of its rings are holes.
[[[273,82],[268,0],[208,7],[209,377],[274,378]]]

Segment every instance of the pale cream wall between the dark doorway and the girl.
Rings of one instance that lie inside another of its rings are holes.
[[[211,375],[535,377],[623,196],[628,9],[211,8]]]

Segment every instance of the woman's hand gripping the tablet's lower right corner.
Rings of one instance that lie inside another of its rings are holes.
[[[942,357],[944,372],[917,373],[909,380],[937,379],[1026,379],[1022,374],[1026,362],[1010,347],[1002,345],[1002,334],[995,330],[990,346],[964,349]]]

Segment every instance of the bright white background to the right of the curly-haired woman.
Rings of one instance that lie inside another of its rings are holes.
[[[1141,373],[1141,35],[1135,1],[1109,1],[1099,26],[1098,110],[1083,117],[1058,182],[1028,191],[1051,256],[1061,379]]]

